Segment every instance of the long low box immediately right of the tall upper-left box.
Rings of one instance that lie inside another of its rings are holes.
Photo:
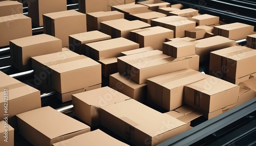
[[[124,14],[118,11],[109,11],[109,12],[93,12],[87,13],[87,25],[95,30],[100,30],[100,22],[122,19],[124,18]]]

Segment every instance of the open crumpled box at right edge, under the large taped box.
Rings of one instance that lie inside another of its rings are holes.
[[[239,87],[238,106],[256,97],[256,78],[241,82]]]

